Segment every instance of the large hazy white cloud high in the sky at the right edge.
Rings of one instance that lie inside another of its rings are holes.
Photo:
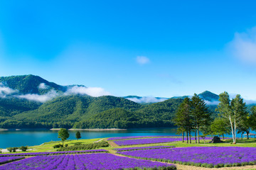
[[[229,45],[230,52],[243,62],[256,63],[256,27],[245,33],[235,33]]]

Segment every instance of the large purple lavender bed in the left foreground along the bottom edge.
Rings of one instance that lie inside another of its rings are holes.
[[[108,153],[98,154],[67,154],[55,156],[36,156],[23,159],[19,162],[12,162],[0,166],[0,170],[4,169],[149,169],[156,167],[157,169],[176,169],[172,164],[151,162],[143,159],[132,159],[128,157],[118,157]]]

